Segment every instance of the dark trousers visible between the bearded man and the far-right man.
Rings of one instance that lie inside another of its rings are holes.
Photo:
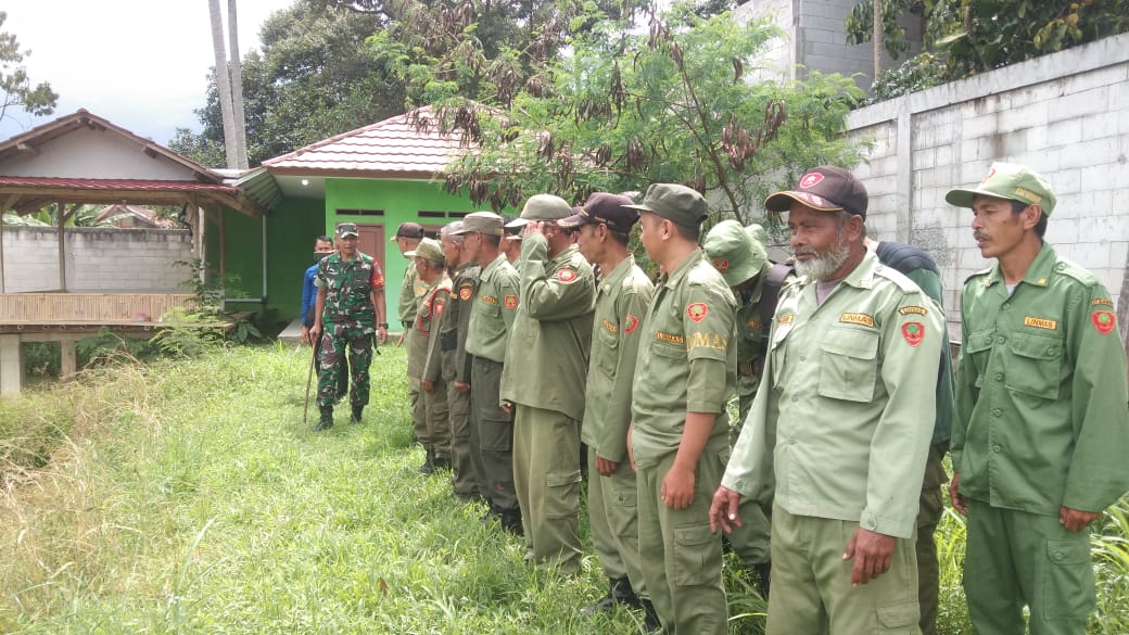
[[[937,597],[940,592],[940,568],[937,563],[937,541],[933,534],[937,531],[940,516],[945,513],[945,497],[942,486],[948,482],[948,475],[942,463],[947,452],[947,444],[929,447],[929,456],[925,463],[925,480],[921,484],[921,498],[918,502],[918,604],[921,607],[922,635],[937,635]]]

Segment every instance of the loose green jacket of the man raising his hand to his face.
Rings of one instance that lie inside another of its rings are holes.
[[[584,418],[596,284],[576,245],[549,259],[541,234],[522,242],[522,305],[514,320],[501,399]]]

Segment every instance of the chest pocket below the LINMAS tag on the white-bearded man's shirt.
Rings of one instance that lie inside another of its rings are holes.
[[[823,338],[819,393],[831,399],[868,402],[878,379],[877,331],[831,329]]]

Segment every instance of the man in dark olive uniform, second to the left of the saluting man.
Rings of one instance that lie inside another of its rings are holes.
[[[444,226],[439,233],[443,254],[453,279],[450,301],[439,321],[439,337],[431,342],[439,349],[439,373],[447,384],[447,408],[450,420],[450,467],[454,471],[455,495],[463,501],[479,498],[479,481],[471,462],[471,358],[466,354],[466,336],[471,323],[471,305],[479,286],[481,268],[466,259],[464,236],[458,234],[463,221]],[[428,357],[426,375],[434,371],[436,359]]]

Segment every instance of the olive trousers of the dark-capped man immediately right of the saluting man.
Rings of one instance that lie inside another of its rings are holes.
[[[640,598],[649,598],[639,565],[639,511],[636,473],[624,460],[611,476],[599,476],[596,452],[588,449],[588,523],[604,575],[627,577]]]

